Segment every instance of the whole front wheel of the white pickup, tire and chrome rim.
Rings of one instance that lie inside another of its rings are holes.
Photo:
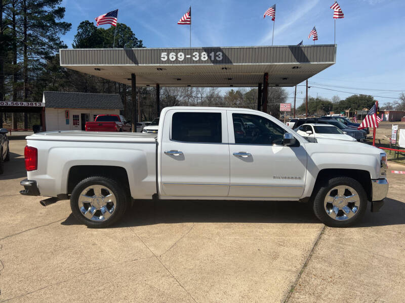
[[[330,179],[318,188],[313,211],[330,227],[346,227],[358,222],[367,208],[367,194],[361,184],[349,177]]]

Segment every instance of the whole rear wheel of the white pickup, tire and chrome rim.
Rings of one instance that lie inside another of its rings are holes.
[[[74,217],[88,227],[106,227],[123,217],[127,209],[126,192],[110,178],[89,177],[74,187],[70,208]]]

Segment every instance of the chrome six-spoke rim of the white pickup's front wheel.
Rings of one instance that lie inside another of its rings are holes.
[[[337,221],[345,221],[358,213],[360,197],[353,187],[339,185],[329,190],[323,206],[329,217]]]

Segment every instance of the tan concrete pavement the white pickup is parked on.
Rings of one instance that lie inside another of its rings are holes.
[[[18,191],[24,140],[0,176],[0,301],[401,301],[405,175],[356,227],[325,227],[306,205],[138,201],[120,224],[89,229],[69,201]],[[389,170],[397,170],[390,165]],[[399,166],[398,170],[405,170]]]

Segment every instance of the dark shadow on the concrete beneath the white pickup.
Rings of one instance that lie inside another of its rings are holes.
[[[311,208],[295,201],[139,200],[123,220],[110,228],[170,223],[320,223]],[[61,223],[77,225],[72,214]],[[405,224],[405,203],[391,198],[378,213],[370,206],[363,220],[352,226]]]

